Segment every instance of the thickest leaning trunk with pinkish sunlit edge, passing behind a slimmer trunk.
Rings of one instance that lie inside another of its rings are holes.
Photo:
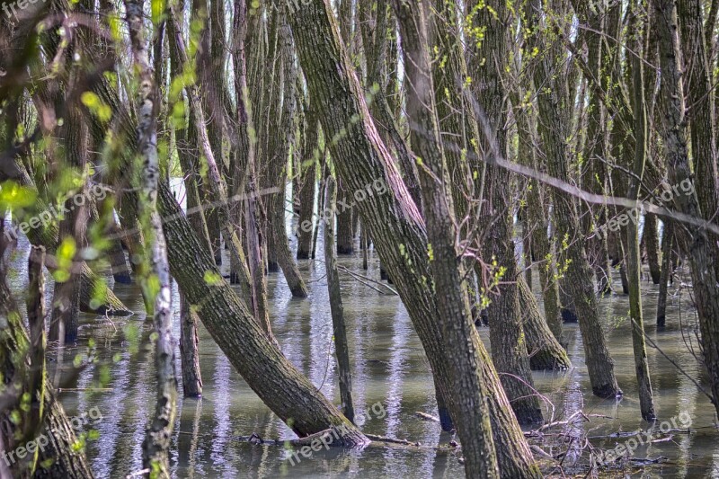
[[[388,191],[358,202],[362,225],[377,247],[380,259],[395,281],[422,346],[431,364],[436,384],[449,401],[453,400],[450,378],[455,374],[442,345],[438,320],[438,297],[430,285],[427,234],[422,217],[401,180],[394,160],[382,144],[357,76],[343,48],[329,5],[313,0],[288,17],[297,52],[324,134],[337,141],[329,145],[334,164],[348,188],[366,190],[383,182]],[[338,67],[339,66],[339,67]],[[352,125],[351,129],[347,129]],[[487,386],[494,444],[502,473],[513,477],[538,477],[534,459],[522,436],[511,406],[496,376],[491,359],[479,345],[478,334],[470,340],[478,355],[477,368]]]

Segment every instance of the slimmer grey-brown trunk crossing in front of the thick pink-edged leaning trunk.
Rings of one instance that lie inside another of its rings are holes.
[[[486,404],[487,389],[476,362],[480,360],[469,304],[457,262],[457,228],[452,215],[447,165],[439,139],[439,125],[427,45],[427,22],[421,4],[395,0],[407,75],[407,118],[413,154],[420,164],[422,204],[427,218],[432,284],[437,291],[442,342],[448,351],[453,396],[449,410],[457,424],[466,477],[499,477],[492,425]],[[514,297],[516,300],[516,297]],[[480,343],[481,344],[481,343]],[[525,351],[526,354],[526,351]],[[525,356],[526,358],[526,356]]]

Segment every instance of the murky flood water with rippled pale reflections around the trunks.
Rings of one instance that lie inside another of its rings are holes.
[[[26,259],[29,244],[21,238],[13,253],[11,287],[20,301],[27,284]],[[322,235],[317,252],[323,252]],[[322,254],[318,255],[322,257]],[[225,272],[229,262],[223,262]],[[339,404],[337,370],[333,357],[333,331],[324,262],[300,262],[307,280],[309,297],[293,299],[281,273],[269,277],[269,298],[273,332],[284,354],[324,395]],[[362,270],[361,255],[341,258],[349,270],[379,278],[377,253],[369,254],[369,270]],[[113,279],[109,269],[109,284]],[[451,453],[432,447],[453,439],[441,432],[439,424],[423,421],[415,412],[436,415],[434,388],[422,345],[399,297],[383,295],[360,284],[341,271],[344,314],[351,347],[352,382],[355,411],[368,411],[358,422],[368,433],[420,442],[421,448],[367,448],[362,451],[331,449],[312,457],[289,460],[292,449],[267,447],[237,439],[256,433],[265,439],[293,439],[295,435],[254,395],[200,326],[200,368],[203,398],[179,396],[174,426],[171,466],[176,477],[464,477],[463,466]],[[537,280],[537,274],[534,274]],[[48,303],[52,279],[48,276]],[[618,281],[618,279],[617,279]],[[615,284],[618,284],[615,282]],[[648,337],[661,348],[688,377],[709,389],[706,374],[689,348],[698,355],[696,317],[688,306],[690,288],[675,281],[670,287],[667,326],[654,325],[658,287],[643,279],[644,318]],[[141,444],[155,403],[155,366],[147,319],[137,285],[114,285],[118,297],[135,311],[130,317],[87,315],[77,344],[67,347],[58,361],[50,354],[49,377],[56,377],[63,365],[59,384],[66,387],[58,396],[69,416],[87,414],[93,408],[102,419],[84,429],[93,429],[86,450],[98,477],[125,477],[141,467]],[[382,288],[382,287],[379,287]],[[538,292],[537,284],[534,291]],[[49,305],[48,305],[49,306]],[[173,284],[173,307],[179,318],[177,287]],[[617,431],[646,430],[640,419],[628,298],[612,295],[601,300],[601,311],[608,330],[608,347],[616,363],[617,380],[625,396],[620,402],[600,400],[591,395],[584,366],[581,336],[576,324],[566,324],[569,353],[574,368],[564,372],[535,372],[537,390],[546,397],[546,419],[561,421],[582,410],[589,421],[579,418],[560,430],[587,431],[595,447],[613,448],[626,438],[606,436]],[[228,321],[231,318],[227,318]],[[485,328],[480,334],[489,348]],[[175,337],[179,330],[175,329]],[[76,355],[84,358],[94,342],[96,360],[73,377],[69,372]],[[686,343],[686,345],[685,345]],[[180,371],[179,350],[175,351]],[[648,466],[635,477],[719,477],[719,433],[715,430],[714,408],[706,395],[662,354],[648,346],[654,400],[659,421],[691,418],[689,434],[655,436],[656,442],[636,449],[634,457],[662,459],[661,465]],[[374,407],[374,409],[373,409]],[[601,415],[606,417],[596,417]],[[549,452],[576,448],[571,440],[547,437],[555,443]],[[585,455],[586,455],[585,451]],[[586,457],[586,456],[585,456]],[[568,454],[565,465],[573,460]],[[625,473],[633,471],[627,466]],[[636,473],[636,471],[635,471]],[[617,472],[617,475],[621,474]],[[613,475],[612,475],[613,476]]]

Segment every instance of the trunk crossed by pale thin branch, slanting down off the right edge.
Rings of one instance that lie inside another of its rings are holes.
[[[664,151],[669,164],[670,182],[688,182],[693,186],[687,147],[687,107],[679,66],[677,8],[672,0],[656,0],[654,11],[659,37],[661,95],[665,99],[660,107],[664,123]],[[702,217],[696,195],[678,195],[674,198],[674,206],[679,212],[691,217]],[[715,258],[705,227],[685,226],[684,229],[688,235],[688,258],[704,360],[715,409],[719,412],[719,282],[716,280]]]

